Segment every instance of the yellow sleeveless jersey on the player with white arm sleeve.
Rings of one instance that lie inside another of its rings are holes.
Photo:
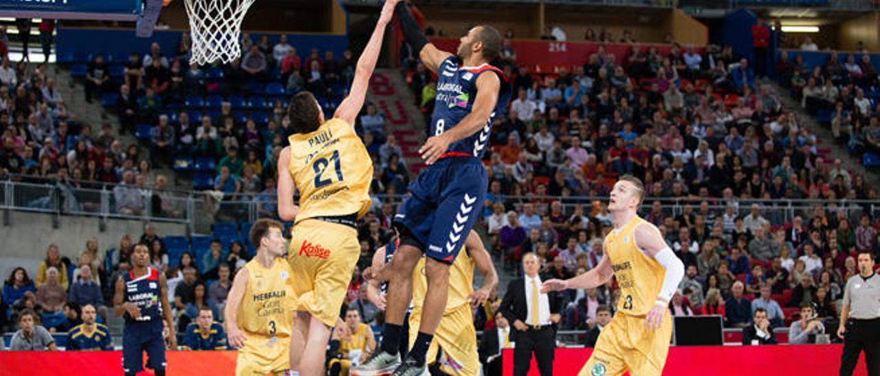
[[[635,245],[635,228],[647,223],[636,215],[629,223],[605,236],[605,255],[609,257],[620,286],[618,312],[632,316],[648,315],[663,287],[666,270]]]

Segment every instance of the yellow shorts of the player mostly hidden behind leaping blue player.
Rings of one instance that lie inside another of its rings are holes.
[[[419,335],[422,307],[415,307],[409,315],[409,347]],[[428,364],[434,363],[437,351],[442,349],[440,369],[451,375],[473,376],[480,374],[480,355],[477,354],[477,331],[473,328],[473,314],[468,305],[444,313],[434,333],[434,341],[425,356]]]

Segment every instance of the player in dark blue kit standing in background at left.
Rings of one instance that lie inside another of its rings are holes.
[[[168,304],[165,275],[150,268],[150,251],[137,244],[131,254],[132,269],[116,281],[114,313],[125,317],[122,329],[122,370],[126,376],[143,371],[143,351],[147,367],[156,376],[165,376],[165,337],[162,320],[168,324],[170,347],[177,347],[174,319]]]

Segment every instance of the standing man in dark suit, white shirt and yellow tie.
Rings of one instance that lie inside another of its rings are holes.
[[[540,267],[537,255],[525,254],[525,276],[510,282],[499,308],[504,318],[513,322],[515,329],[510,332],[510,341],[517,343],[513,351],[514,376],[529,372],[532,352],[541,376],[553,374],[556,323],[561,318],[562,299],[556,292],[540,293]]]

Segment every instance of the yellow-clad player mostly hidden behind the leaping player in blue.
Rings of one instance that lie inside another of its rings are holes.
[[[370,279],[370,299],[377,305],[384,306],[384,300],[376,287],[379,281],[387,278],[384,270],[386,255],[384,247],[373,255],[370,270],[366,271]],[[448,298],[444,315],[430,343],[426,357],[429,369],[434,374],[476,375],[480,373],[480,356],[477,353],[477,335],[473,327],[473,311],[471,307],[481,307],[498,286],[498,274],[492,257],[483,246],[480,235],[471,230],[464,246],[465,252],[459,253],[452,262],[449,274]],[[473,290],[473,269],[476,267],[483,275],[483,286]],[[413,311],[409,315],[409,346],[415,342],[422,319],[422,307],[428,292],[428,279],[425,277],[425,257],[415,265],[413,273]],[[383,307],[384,308],[384,307]]]

